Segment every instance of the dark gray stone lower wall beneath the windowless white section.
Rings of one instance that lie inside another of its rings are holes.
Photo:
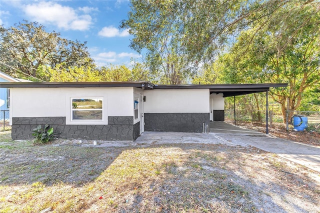
[[[209,119],[209,113],[144,113],[144,130],[202,132]]]

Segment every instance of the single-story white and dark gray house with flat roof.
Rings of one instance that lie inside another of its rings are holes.
[[[38,124],[61,138],[135,140],[143,131],[202,132],[224,120],[224,97],[286,83],[154,85],[133,82],[6,82],[12,139]]]

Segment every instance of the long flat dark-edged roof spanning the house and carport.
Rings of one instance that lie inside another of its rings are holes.
[[[1,88],[13,87],[137,87],[143,89],[209,89],[211,93],[223,93],[224,97],[268,91],[270,87],[286,87],[287,83],[245,84],[153,84],[149,81],[121,82],[1,82]]]

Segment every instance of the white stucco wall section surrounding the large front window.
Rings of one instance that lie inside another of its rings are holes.
[[[66,123],[71,124],[70,97],[103,97],[104,124],[107,123],[107,116],[133,116],[132,87],[11,88],[10,118],[65,116]],[[76,123],[72,121],[72,124]]]

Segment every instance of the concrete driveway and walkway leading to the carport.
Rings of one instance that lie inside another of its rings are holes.
[[[254,146],[320,172],[320,147],[266,135],[224,122],[210,123],[210,133],[143,132],[135,143],[216,143]]]

